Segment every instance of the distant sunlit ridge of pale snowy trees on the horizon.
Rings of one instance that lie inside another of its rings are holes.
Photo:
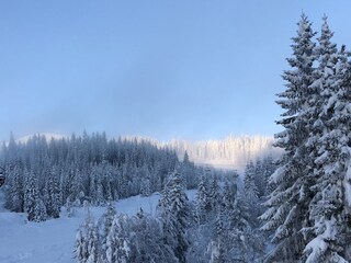
[[[45,136],[47,140],[70,138],[70,136],[56,133],[37,133],[23,136],[16,139],[18,142],[26,142],[31,137]],[[168,142],[160,142],[150,137],[141,136],[121,136],[121,139],[149,141],[160,148],[168,147],[176,150],[180,159],[183,158],[185,151],[190,159],[200,165],[212,165],[225,170],[242,171],[249,160],[256,161],[264,157],[271,156],[273,159],[281,155],[281,150],[273,147],[273,136],[248,136],[230,135],[224,139],[211,140],[181,140],[173,139]]]

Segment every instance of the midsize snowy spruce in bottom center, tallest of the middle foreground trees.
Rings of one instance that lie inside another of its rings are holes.
[[[189,247],[185,231],[190,218],[190,205],[179,172],[169,175],[165,190],[158,207],[163,225],[165,242],[172,248],[179,262],[185,263]]]

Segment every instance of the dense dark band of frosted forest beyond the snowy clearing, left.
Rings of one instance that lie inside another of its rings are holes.
[[[186,187],[195,187],[201,169],[180,162],[176,152],[146,140],[106,139],[104,134],[46,140],[34,135],[25,142],[11,136],[1,150],[5,171],[5,207],[42,221],[59,217],[60,208],[84,201],[103,205],[133,195],[160,192],[167,175],[179,167]]]

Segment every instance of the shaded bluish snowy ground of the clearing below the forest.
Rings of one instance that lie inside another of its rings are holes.
[[[195,191],[186,192],[190,199]],[[155,215],[160,195],[133,196],[115,203],[118,213],[135,215],[141,207]],[[104,207],[90,208],[98,219]],[[0,191],[0,263],[73,263],[73,243],[77,229],[87,211],[77,208],[75,216],[61,216],[45,222],[27,222],[25,214],[10,213],[3,208],[3,193]]]

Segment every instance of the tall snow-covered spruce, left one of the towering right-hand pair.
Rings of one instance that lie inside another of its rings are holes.
[[[287,59],[292,69],[283,75],[286,90],[279,94],[276,102],[285,110],[283,118],[276,122],[285,130],[275,135],[275,146],[284,153],[270,179],[276,187],[265,202],[268,210],[261,216],[262,229],[274,230],[272,242],[275,247],[267,262],[301,260],[306,247],[302,230],[312,225],[309,214],[314,193],[310,186],[315,184],[315,178],[310,176],[314,161],[306,141],[316,121],[309,118],[309,103],[315,99],[315,91],[310,89],[315,80],[315,34],[312,23],[302,14],[297,36],[292,38],[293,57]]]

